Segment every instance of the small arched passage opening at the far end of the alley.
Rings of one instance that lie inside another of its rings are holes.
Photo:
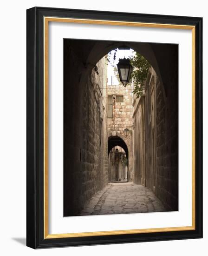
[[[116,147],[120,147],[123,149],[123,151],[125,152],[125,154],[123,154],[122,150],[118,150],[118,148]],[[112,151],[112,149],[114,149]],[[110,154],[112,153],[112,154]],[[113,164],[113,168],[110,168],[109,166],[109,182],[129,182],[129,151],[128,151],[128,147],[125,143],[125,141],[119,137],[119,136],[110,136],[108,138],[108,157],[110,155],[109,158],[109,163]],[[124,158],[123,158],[124,156]],[[111,159],[111,157],[113,157],[113,159]],[[125,157],[126,157],[126,163],[125,161]],[[123,158],[123,159],[122,159]],[[124,160],[124,161],[123,161]],[[121,162],[123,162],[124,164],[120,164]],[[127,173],[126,175],[121,175],[121,173],[125,172],[123,169],[126,165],[127,167]],[[115,172],[112,174],[112,171]],[[119,175],[120,174],[120,175]],[[124,177],[126,176],[126,178],[121,179],[120,177]]]

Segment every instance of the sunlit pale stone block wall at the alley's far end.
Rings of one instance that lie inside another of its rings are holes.
[[[112,117],[108,118],[108,136],[118,136],[126,143],[129,160],[129,181],[133,181],[132,173],[132,85],[110,85],[108,86],[108,96],[112,96]],[[123,101],[117,102],[117,96],[123,95]],[[129,134],[125,135],[124,129],[129,129]]]

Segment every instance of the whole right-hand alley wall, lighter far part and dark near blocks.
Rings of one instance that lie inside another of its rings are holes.
[[[174,71],[165,92],[151,68],[144,96],[133,101],[134,182],[152,189],[167,210],[178,210],[176,68]]]

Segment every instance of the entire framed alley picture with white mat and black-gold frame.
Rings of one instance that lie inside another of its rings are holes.
[[[202,238],[202,18],[27,10],[27,246]]]

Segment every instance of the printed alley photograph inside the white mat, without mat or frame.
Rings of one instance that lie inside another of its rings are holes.
[[[178,45],[64,40],[64,216],[178,211]]]

